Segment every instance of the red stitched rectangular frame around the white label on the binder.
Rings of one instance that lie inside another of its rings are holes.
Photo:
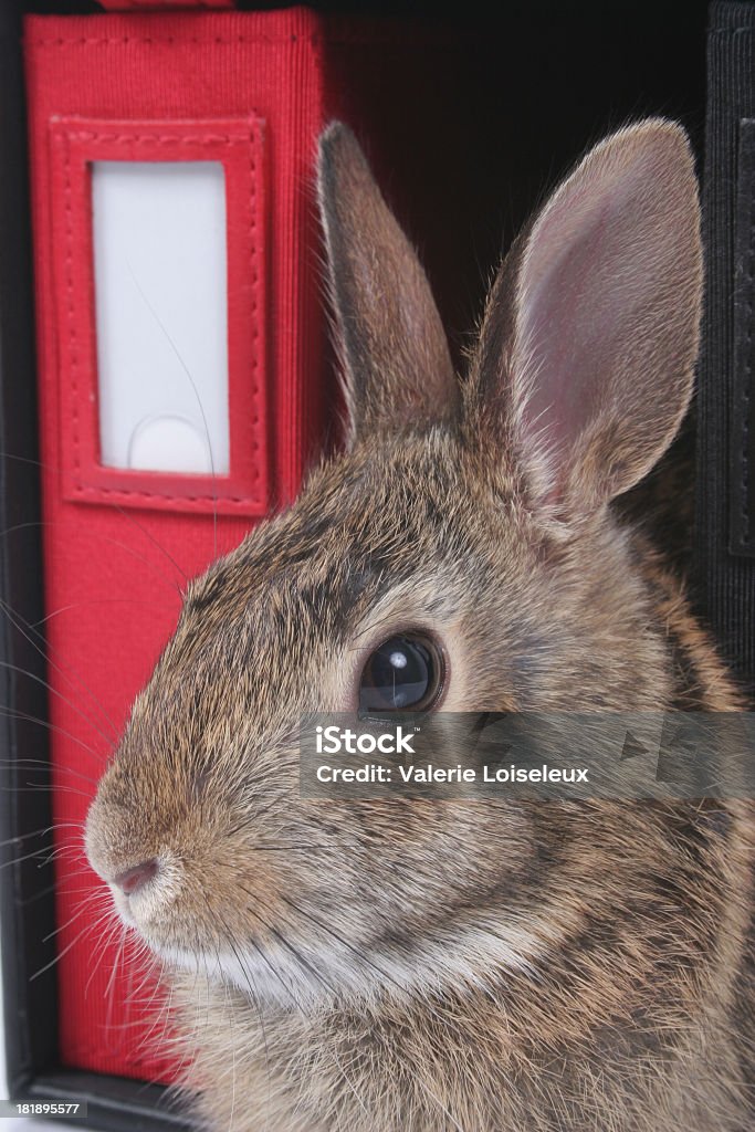
[[[50,123],[61,490],[66,499],[191,513],[264,515],[269,506],[265,366],[264,122],[259,118]],[[91,170],[94,162],[213,161],[225,177],[229,472],[101,462]]]

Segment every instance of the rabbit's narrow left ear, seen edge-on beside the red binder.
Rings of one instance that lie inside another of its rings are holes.
[[[349,439],[452,417],[457,383],[427,276],[341,122],[320,137],[318,189]]]

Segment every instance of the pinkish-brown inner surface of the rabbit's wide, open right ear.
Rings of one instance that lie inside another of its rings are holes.
[[[678,145],[636,144],[632,134],[594,151],[530,235],[514,369],[526,391],[523,439],[544,455],[555,495],[587,432],[610,428],[652,463],[645,449],[684,406],[678,381],[663,393],[669,367],[678,378],[679,335],[687,344],[695,336],[697,215],[690,169],[678,157]]]

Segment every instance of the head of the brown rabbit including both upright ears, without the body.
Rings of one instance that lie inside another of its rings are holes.
[[[428,711],[672,702],[658,595],[610,503],[674,438],[701,307],[693,160],[668,121],[598,145],[534,216],[463,381],[338,123],[319,199],[345,451],[191,583],[87,823],[93,866],[169,966],[283,1001],[526,967],[569,917],[549,914],[539,863],[589,843],[564,863],[567,890],[591,883],[601,843],[610,858],[609,818],[601,835],[568,807],[307,800],[299,720],[364,695]],[[387,687],[395,653],[409,671]],[[633,852],[612,860],[614,891],[640,883]]]

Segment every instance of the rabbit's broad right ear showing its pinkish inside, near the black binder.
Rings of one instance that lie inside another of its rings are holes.
[[[650,471],[687,408],[702,300],[684,130],[650,119],[597,146],[494,285],[470,398],[533,503],[597,509]]]

